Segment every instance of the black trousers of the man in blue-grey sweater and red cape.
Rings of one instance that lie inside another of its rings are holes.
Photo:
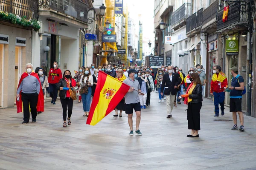
[[[37,116],[36,105],[38,102],[38,94],[37,93],[21,93],[21,100],[23,102],[23,120],[29,122],[29,106],[31,111],[32,119],[35,119]]]

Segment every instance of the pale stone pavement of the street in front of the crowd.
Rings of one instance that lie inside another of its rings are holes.
[[[78,101],[67,128],[59,101],[46,103],[37,122],[26,125],[16,108],[1,109],[0,170],[256,170],[256,119],[244,117],[245,132],[231,130],[232,121],[213,120],[213,107],[204,99],[199,138],[186,137],[186,105],[166,119],[166,101],[158,103],[155,92],[151,106],[142,110],[143,136],[129,136],[125,113],[86,125]],[[218,119],[232,120],[228,110]]]

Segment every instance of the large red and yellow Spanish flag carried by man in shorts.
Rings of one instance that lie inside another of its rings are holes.
[[[99,71],[98,82],[86,124],[96,125],[113,111],[129,88],[130,86],[120,82],[118,79]]]

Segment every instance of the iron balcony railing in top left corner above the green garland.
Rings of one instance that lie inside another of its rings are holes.
[[[27,19],[37,19],[37,9],[37,0],[0,0],[0,11],[26,16]]]

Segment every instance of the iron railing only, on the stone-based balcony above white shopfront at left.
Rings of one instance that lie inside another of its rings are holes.
[[[88,4],[83,3],[80,0],[38,0],[38,2],[39,9],[51,8],[54,11],[87,22]]]

